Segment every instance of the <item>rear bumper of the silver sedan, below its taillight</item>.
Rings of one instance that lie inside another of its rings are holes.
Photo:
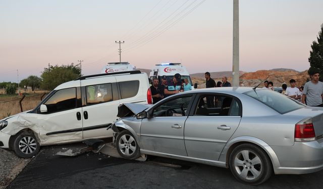
[[[272,148],[281,165],[274,167],[275,174],[305,174],[323,169],[323,140]]]

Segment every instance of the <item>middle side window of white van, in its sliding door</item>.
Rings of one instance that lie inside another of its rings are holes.
[[[87,105],[110,101],[113,101],[111,83],[86,86]]]

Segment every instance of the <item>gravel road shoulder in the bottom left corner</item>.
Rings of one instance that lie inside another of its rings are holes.
[[[14,152],[0,148],[0,189],[6,188],[30,160],[19,158]]]

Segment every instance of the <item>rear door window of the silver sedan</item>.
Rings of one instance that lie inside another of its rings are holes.
[[[239,116],[239,108],[233,97],[203,95],[199,97],[193,116]]]

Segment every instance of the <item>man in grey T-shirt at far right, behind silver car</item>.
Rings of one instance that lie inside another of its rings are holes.
[[[305,83],[302,103],[305,103],[308,106],[319,106],[323,107],[322,98],[323,98],[323,83],[318,81],[319,74],[318,72],[310,72],[311,81]]]

